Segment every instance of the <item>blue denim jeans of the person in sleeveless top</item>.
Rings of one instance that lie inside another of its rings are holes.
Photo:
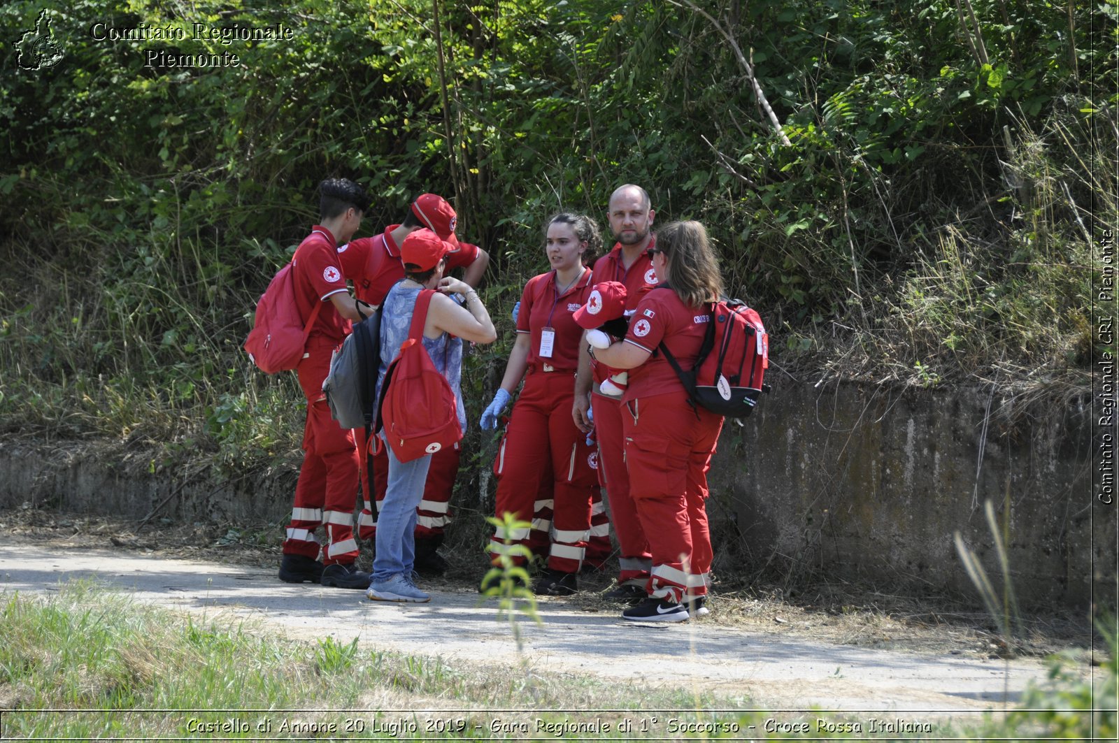
[[[384,433],[380,434],[384,441]],[[388,483],[377,514],[377,554],[373,581],[387,581],[397,573],[412,575],[415,563],[416,507],[423,499],[431,455],[402,462],[388,450]]]

